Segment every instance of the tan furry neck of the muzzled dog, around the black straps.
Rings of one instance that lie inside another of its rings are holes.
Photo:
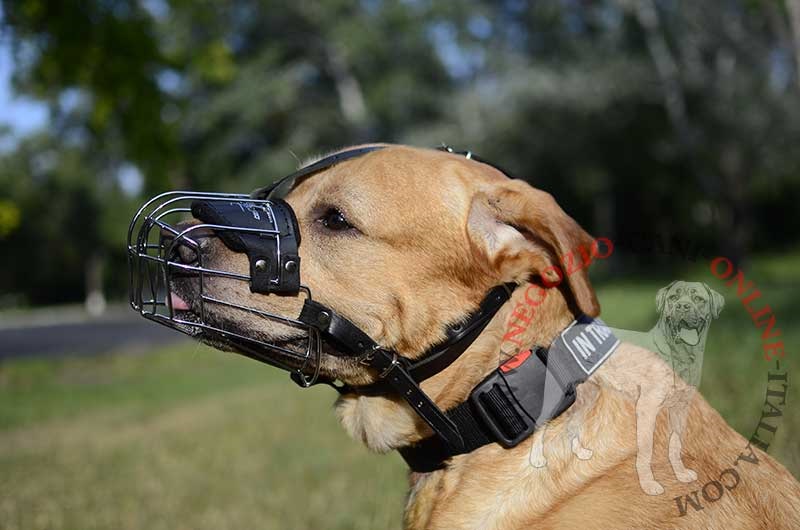
[[[442,410],[461,403],[488,373],[510,356],[533,345],[549,346],[575,318],[557,288],[541,301],[520,285],[475,342],[447,369],[424,381],[422,389]],[[538,287],[531,288],[538,292]],[[533,299],[535,307],[530,305]],[[513,332],[513,334],[512,334]],[[512,340],[513,339],[513,340]],[[345,430],[370,449],[388,452],[432,434],[399,397],[344,395],[336,406]]]

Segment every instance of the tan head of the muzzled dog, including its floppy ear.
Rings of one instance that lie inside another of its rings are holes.
[[[314,299],[409,358],[442,340],[445,326],[476,309],[491,287],[558,283],[559,257],[591,244],[549,194],[435,150],[389,146],[303,180],[285,200],[302,235],[300,277]],[[247,257],[213,233],[193,238],[205,267],[248,274]],[[586,271],[563,280],[551,290],[564,307],[597,315]],[[252,293],[245,282],[220,276],[204,282],[207,295],[256,310],[206,307],[216,326],[290,349],[304,340],[301,330],[257,313],[296,317],[303,296]],[[189,318],[199,304],[198,278],[173,279],[172,288],[173,306]],[[353,384],[372,379],[357,361],[325,348],[325,375]]]

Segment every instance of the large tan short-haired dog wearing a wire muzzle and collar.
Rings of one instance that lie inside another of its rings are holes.
[[[517,285],[466,351],[421,382],[424,395],[439,410],[465,402],[498,369],[505,323],[525,302],[530,286],[539,290],[539,303],[520,339],[531,345],[547,347],[581,315],[600,313],[585,269],[563,275],[557,268],[560,256],[591,245],[587,233],[549,194],[471,156],[385,146],[298,181],[285,200],[302,234],[303,284],[316,301],[381,348],[397,352],[400,360],[416,359],[445,340],[447,326],[474,312],[491,289]],[[240,281],[266,270],[264,260],[253,265],[244,253],[229,248],[230,241],[210,232],[193,237],[195,242],[202,239],[194,251],[202,255],[203,270],[230,272],[205,277],[202,309],[196,278],[171,280],[169,304],[185,322],[202,311],[213,322],[207,329],[272,340],[285,348],[308,339],[307,331],[261,318],[300,314],[302,294],[265,294]],[[222,299],[250,309],[210,303]],[[204,338],[203,332],[199,335]],[[355,440],[387,453],[430,439],[430,422],[403,396],[347,391],[393,373],[397,358],[379,373],[364,362],[370,357],[356,360],[334,349],[322,347],[320,377],[350,385],[336,412]],[[252,349],[248,353],[254,354]],[[540,431],[513,447],[486,443],[452,456],[440,469],[410,473],[405,527],[800,528],[798,482],[769,455],[748,445],[698,393],[692,394],[679,448],[696,481],[677,481],[668,459],[658,456],[667,453],[669,433],[661,415],[651,430],[649,445],[657,450],[647,455],[647,471],[665,493],[642,492],[636,399],[652,400],[655,407],[674,393],[676,379],[658,355],[619,344],[589,377],[599,389],[593,391],[596,395],[584,399],[584,385],[578,385],[574,404],[548,424],[548,440],[568,440],[565,426],[580,414],[581,437],[593,451],[591,459],[575,458],[569,443],[548,441],[547,467],[532,466],[531,444]],[[420,408],[426,406],[419,402]]]

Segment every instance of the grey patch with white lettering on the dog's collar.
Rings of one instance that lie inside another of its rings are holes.
[[[586,375],[591,375],[597,370],[619,346],[619,339],[605,322],[586,315],[581,315],[578,320],[573,321],[561,332],[560,338]]]

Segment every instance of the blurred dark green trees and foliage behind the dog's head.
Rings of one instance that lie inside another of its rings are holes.
[[[0,154],[6,305],[121,296],[145,195],[362,141],[472,149],[620,241],[797,241],[798,0],[0,5],[13,86],[49,109]]]

